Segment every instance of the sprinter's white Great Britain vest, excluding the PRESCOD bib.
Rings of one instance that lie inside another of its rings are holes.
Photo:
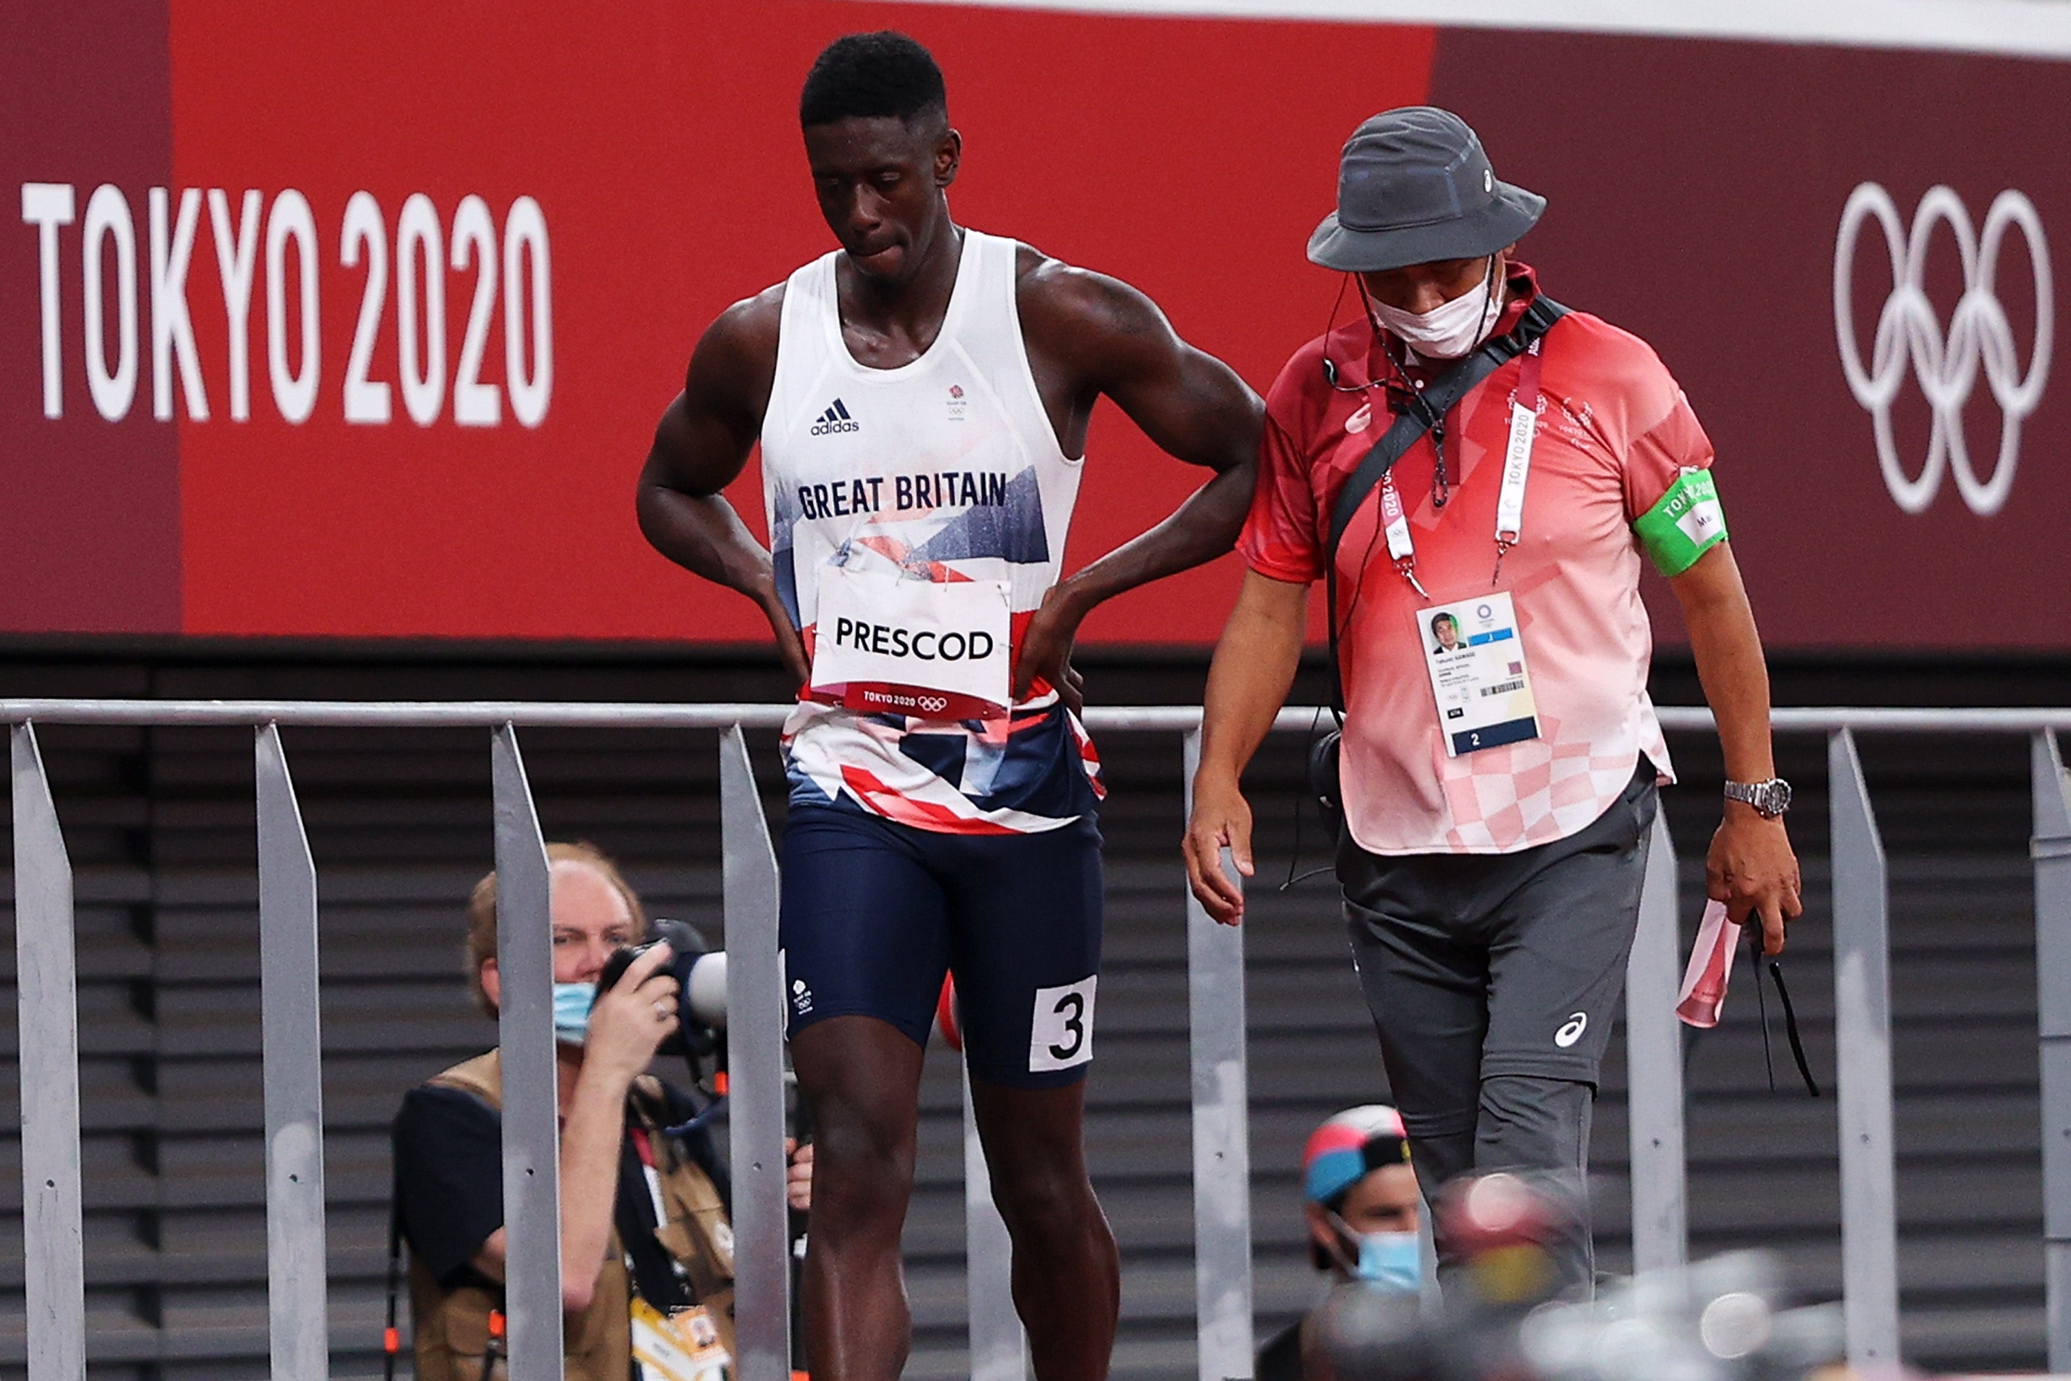
[[[1058,447],[1029,373],[1015,306],[1017,244],[963,232],[942,329],[899,369],[868,369],[849,354],[837,259],[839,251],[828,253],[785,282],[762,420],[762,493],[785,609],[816,648],[835,636],[818,621],[822,588],[837,580],[847,590],[893,580],[994,582],[1019,631],[1056,584],[1083,462]],[[853,609],[855,596],[843,607]],[[1056,828],[1079,814],[1052,814],[1056,772],[1069,766],[1089,776],[1096,768],[1081,762],[1091,756],[1075,723],[1077,745],[1060,752],[1069,745],[1052,741],[1054,721],[1069,716],[1029,714],[1054,702],[1046,692],[1015,706],[1009,723],[801,700],[785,727],[793,799],[862,805],[955,832]],[[915,733],[930,743],[907,743]],[[961,764],[944,766],[944,735],[965,739]],[[1038,799],[1052,810],[1021,807]]]

